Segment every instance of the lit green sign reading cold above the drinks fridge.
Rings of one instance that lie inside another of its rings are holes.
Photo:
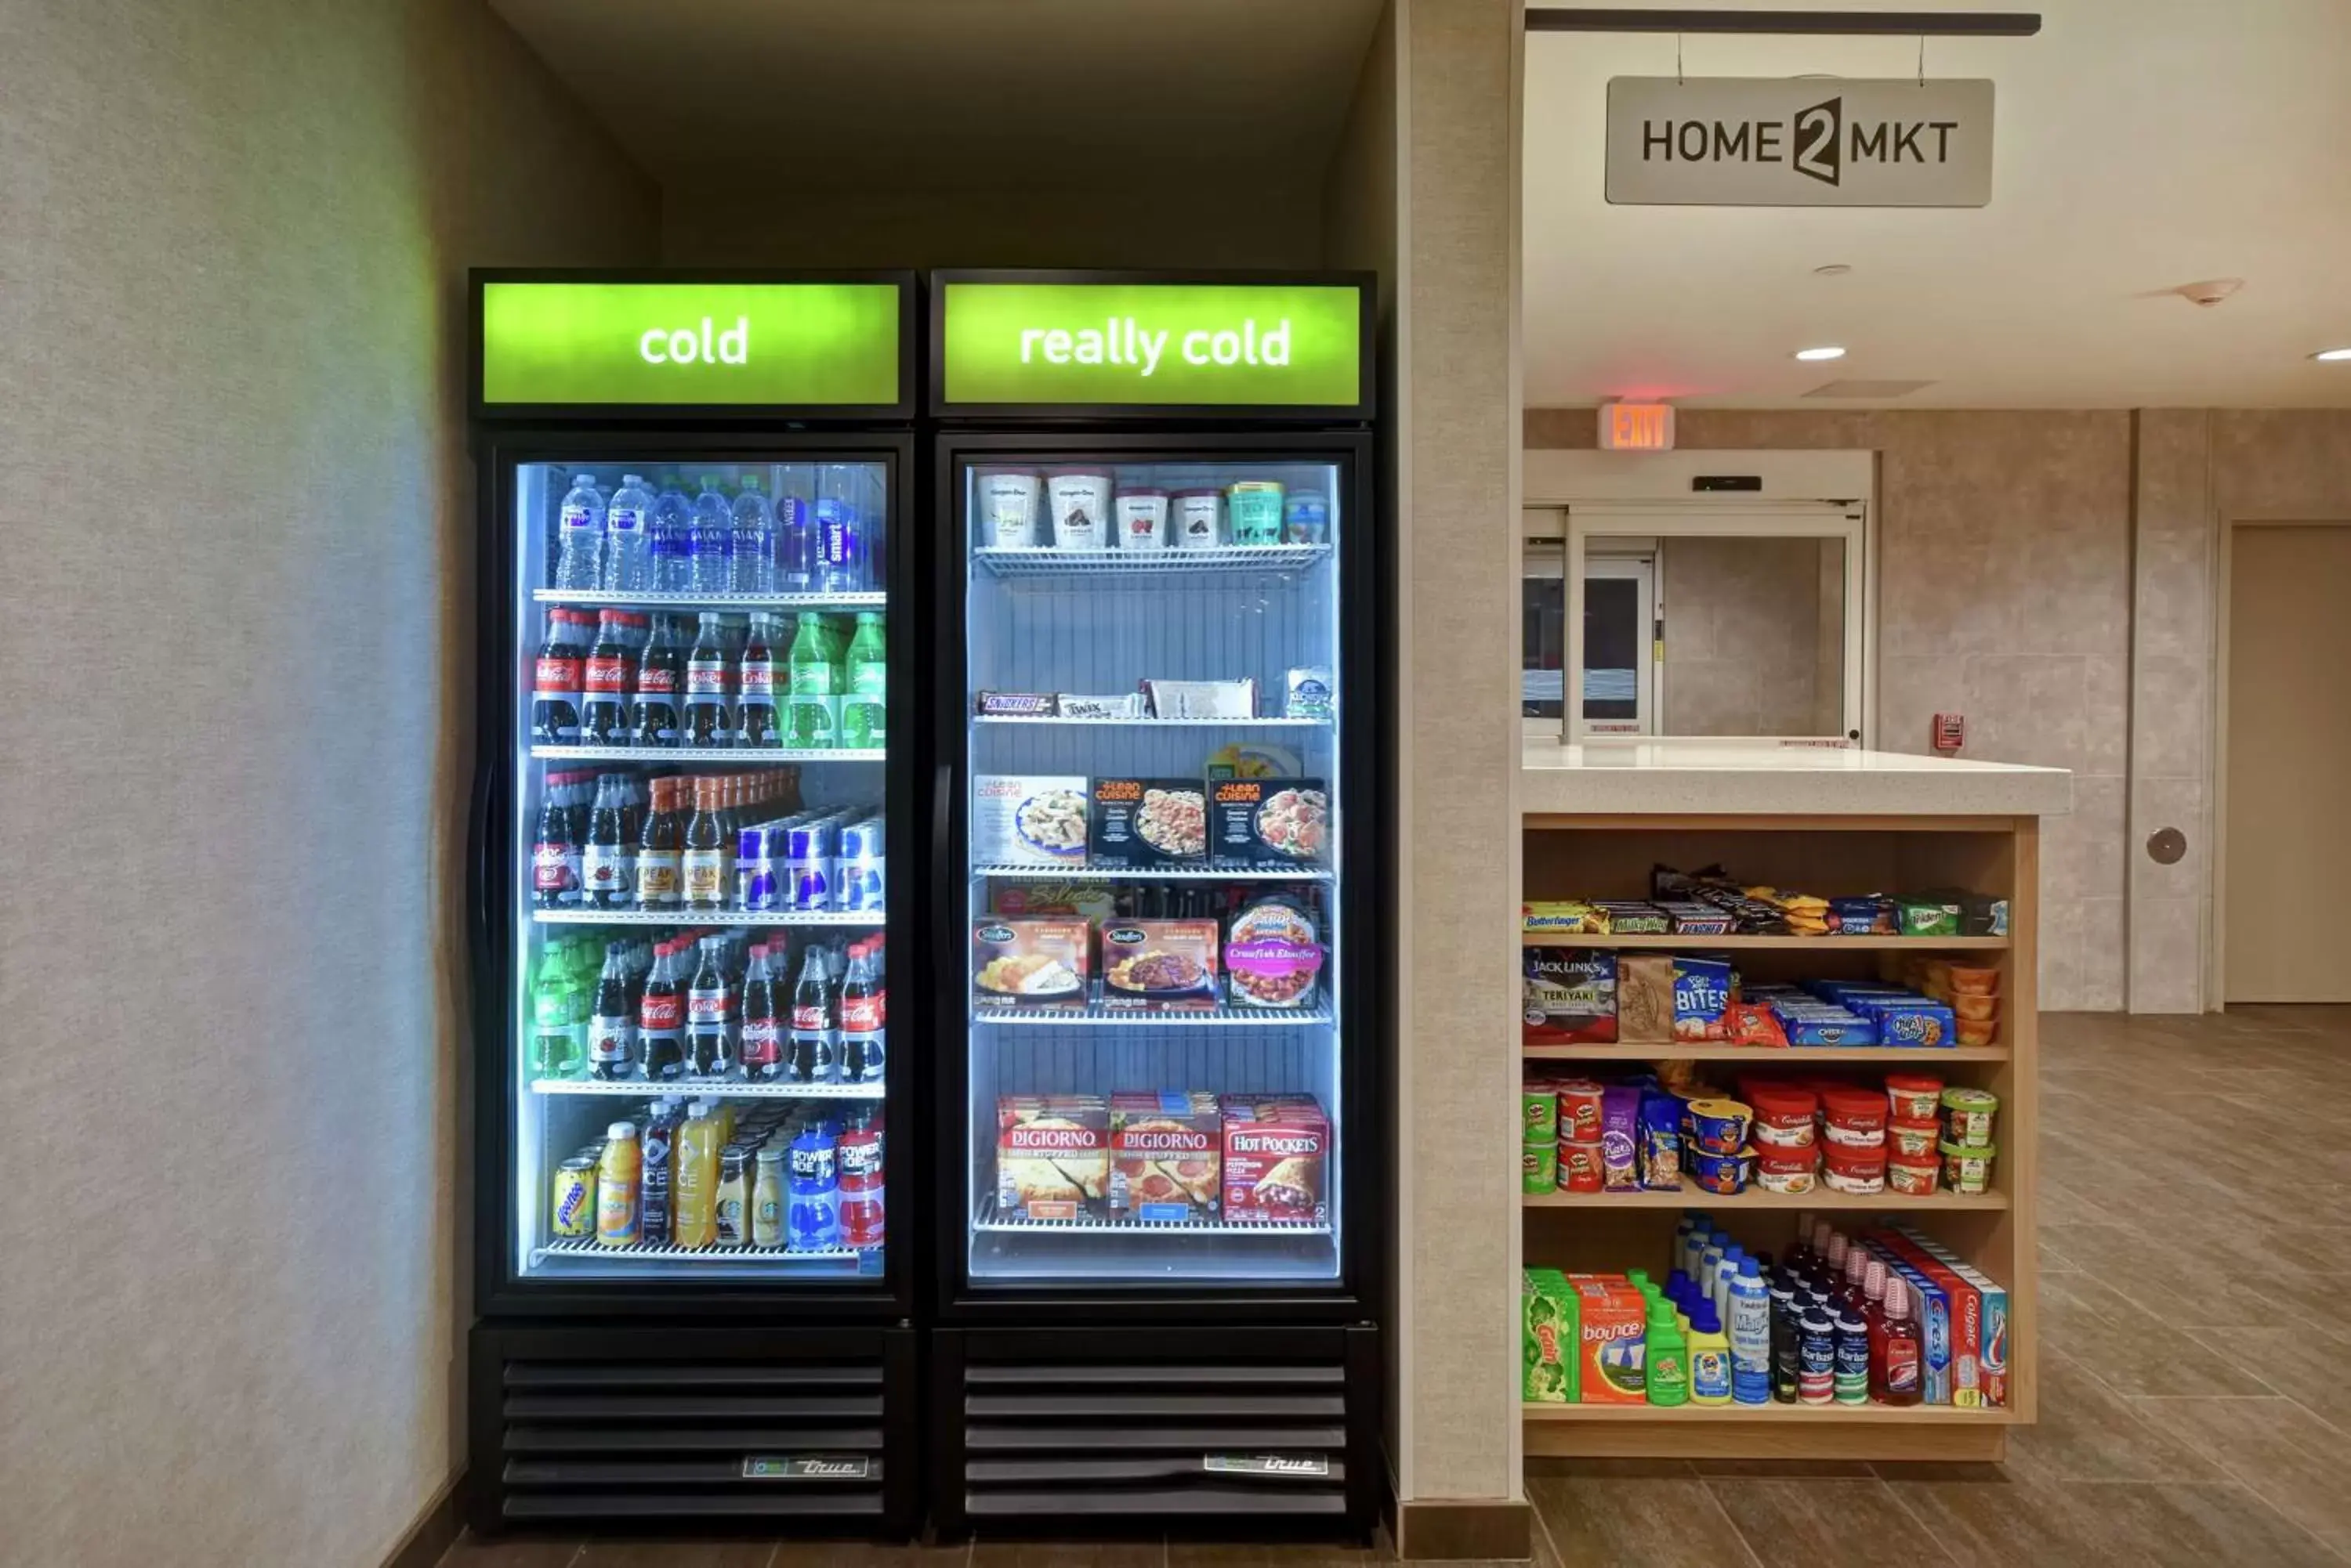
[[[484,404],[898,402],[893,282],[484,282]]]

